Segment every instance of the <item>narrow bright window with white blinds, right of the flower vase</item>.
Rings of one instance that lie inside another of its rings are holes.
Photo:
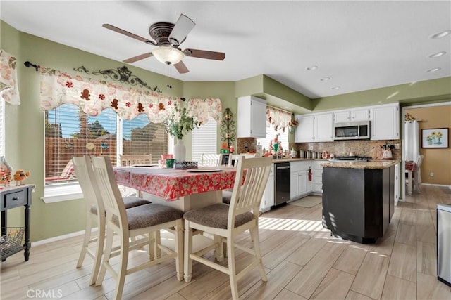
[[[216,121],[209,117],[209,122],[202,124],[192,131],[191,158],[193,162],[200,162],[202,154],[217,154]]]

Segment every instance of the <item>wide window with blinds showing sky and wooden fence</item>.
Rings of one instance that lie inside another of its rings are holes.
[[[121,152],[151,153],[152,157],[168,152],[164,124],[149,123],[147,115],[122,121],[116,112],[106,109],[91,117],[72,104],[63,104],[44,114],[46,185],[77,182],[71,167],[74,156],[107,155],[116,165]]]

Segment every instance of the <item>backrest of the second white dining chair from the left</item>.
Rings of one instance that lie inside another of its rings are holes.
[[[97,188],[106,211],[106,222],[118,230],[128,228],[127,213],[122,200],[121,191],[114,177],[113,166],[109,157],[92,157],[92,167],[97,180]],[[116,219],[117,218],[117,219]]]

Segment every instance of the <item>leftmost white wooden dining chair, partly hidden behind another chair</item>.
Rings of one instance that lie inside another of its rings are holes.
[[[81,268],[86,254],[94,259],[92,266],[90,285],[94,285],[99,274],[99,268],[101,263],[101,254],[104,251],[105,240],[105,209],[104,204],[101,201],[101,195],[99,189],[97,189],[97,182],[92,170],[91,159],[88,156],[85,157],[73,157],[73,167],[75,174],[77,175],[78,182],[82,188],[83,198],[85,199],[85,211],[86,211],[86,227],[85,237],[82,243],[82,250],[77,261],[77,268]],[[123,202],[125,208],[137,207],[150,202],[138,197],[124,197]],[[97,223],[97,234],[92,236],[93,224]],[[89,249],[89,244],[96,243],[95,250]]]

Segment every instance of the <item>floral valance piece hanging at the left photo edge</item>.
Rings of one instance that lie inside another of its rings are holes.
[[[20,105],[16,58],[0,50],[0,96],[12,105]]]

